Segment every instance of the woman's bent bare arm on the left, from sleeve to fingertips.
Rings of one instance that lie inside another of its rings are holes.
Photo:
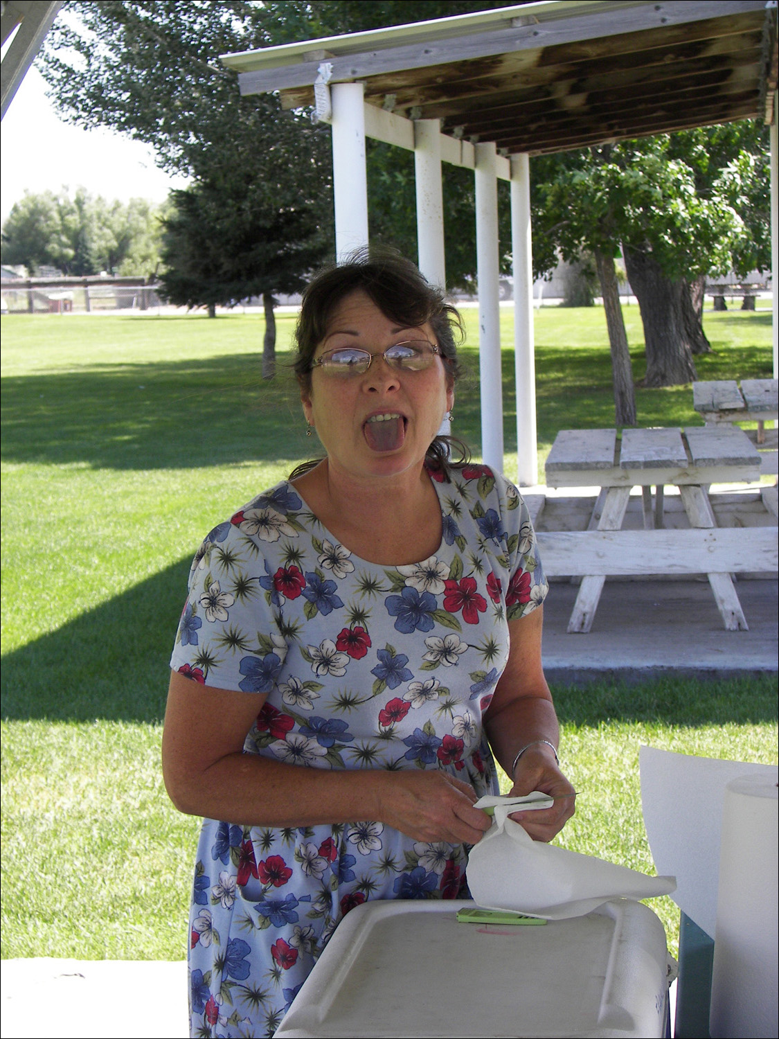
[[[245,826],[379,820],[415,841],[476,844],[489,819],[474,791],[438,770],[338,771],[243,752],[266,697],[171,672],[162,766],[181,811]]]

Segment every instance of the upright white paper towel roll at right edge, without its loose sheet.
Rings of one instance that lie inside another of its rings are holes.
[[[777,779],[725,788],[709,1034],[777,1035]]]

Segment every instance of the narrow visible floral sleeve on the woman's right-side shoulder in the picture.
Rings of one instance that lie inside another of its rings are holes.
[[[509,620],[532,613],[546,598],[549,590],[544,577],[536,532],[525,499],[502,474],[494,473],[494,490],[506,531],[509,581],[506,589],[506,616]]]

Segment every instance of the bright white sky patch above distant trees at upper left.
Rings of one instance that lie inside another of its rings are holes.
[[[46,97],[46,83],[34,64],[28,70],[0,129],[0,220],[4,221],[25,190],[73,193],[83,186],[106,199],[162,202],[183,178],[155,165],[154,152],[110,130],[83,130],[62,123]]]

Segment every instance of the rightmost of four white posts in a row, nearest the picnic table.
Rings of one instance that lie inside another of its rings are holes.
[[[536,362],[533,340],[533,244],[530,217],[530,158],[511,157],[511,251],[514,259],[514,370],[516,377],[516,468],[520,487],[538,482]]]

